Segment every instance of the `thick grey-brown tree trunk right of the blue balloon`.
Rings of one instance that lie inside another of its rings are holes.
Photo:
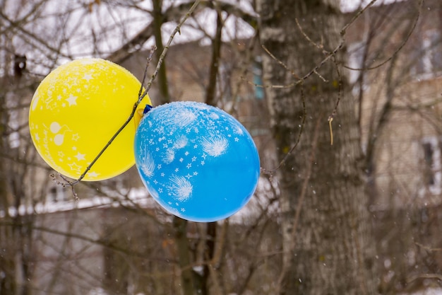
[[[338,8],[324,2],[333,1],[258,1],[261,42],[274,56],[263,54],[266,85],[298,81],[338,47],[343,19]],[[275,175],[284,241],[279,294],[375,294],[360,134],[354,101],[337,73],[329,59],[297,86],[266,88],[279,161],[304,128]],[[328,117],[341,83],[331,145]]]

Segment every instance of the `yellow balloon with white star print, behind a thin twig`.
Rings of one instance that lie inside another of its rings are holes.
[[[38,153],[59,173],[80,178],[129,118],[140,88],[129,71],[104,59],[59,66],[43,79],[30,103],[29,129]],[[151,105],[148,96],[139,108],[146,104]],[[135,112],[83,180],[112,178],[133,166],[133,139],[141,114]]]

